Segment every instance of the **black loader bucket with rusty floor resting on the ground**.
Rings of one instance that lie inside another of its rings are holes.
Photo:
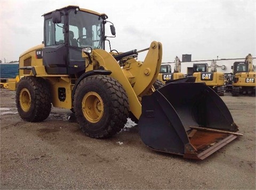
[[[141,140],[157,151],[203,160],[236,139],[237,128],[205,83],[169,83],[142,97]]]

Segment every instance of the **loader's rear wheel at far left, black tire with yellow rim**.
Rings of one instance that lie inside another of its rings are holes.
[[[20,117],[27,122],[42,122],[51,112],[50,85],[41,77],[22,77],[15,99]]]

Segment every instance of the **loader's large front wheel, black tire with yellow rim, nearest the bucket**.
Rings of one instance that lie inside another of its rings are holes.
[[[103,75],[88,76],[78,84],[74,110],[82,131],[96,139],[121,131],[129,116],[128,98],[122,85]]]

